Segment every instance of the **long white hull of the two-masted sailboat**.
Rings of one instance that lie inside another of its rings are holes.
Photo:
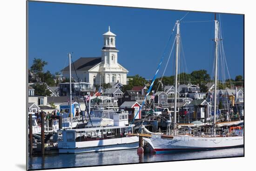
[[[193,137],[180,135],[172,137],[162,138],[161,135],[152,134],[152,138],[145,138],[144,140],[150,144],[156,153],[243,146],[243,136]]]

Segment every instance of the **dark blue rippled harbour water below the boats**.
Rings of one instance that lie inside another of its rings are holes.
[[[200,158],[225,158],[243,156],[243,147],[209,151],[175,152],[166,154],[142,154],[137,150],[58,154],[28,158],[29,170],[61,167],[118,165],[159,161],[176,161]]]

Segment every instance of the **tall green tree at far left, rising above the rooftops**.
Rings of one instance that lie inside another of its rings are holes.
[[[35,78],[38,82],[41,81],[41,78],[43,76],[43,69],[44,66],[48,63],[46,61],[43,61],[40,58],[34,58],[33,64],[30,67],[30,71],[35,75]]]

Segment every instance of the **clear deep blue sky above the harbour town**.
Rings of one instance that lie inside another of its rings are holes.
[[[28,64],[30,67],[34,57],[42,58],[48,62],[45,70],[55,73],[68,65],[68,52],[73,52],[74,61],[80,57],[100,57],[102,34],[108,31],[110,25],[111,32],[117,35],[118,63],[129,70],[128,76],[139,74],[152,79],[175,21],[186,13],[30,1]],[[217,19],[221,19],[230,76],[243,75],[243,15],[217,14]],[[189,12],[182,20],[184,67],[180,72],[204,69],[210,75],[212,73],[214,22],[185,23],[205,20],[214,20],[214,13]],[[171,44],[168,44],[168,50]],[[167,59],[168,56],[165,56],[158,77],[162,76]],[[173,74],[174,55],[170,58],[165,76]]]

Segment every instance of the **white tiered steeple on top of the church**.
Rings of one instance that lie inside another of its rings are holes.
[[[110,26],[108,26],[108,32],[105,32],[102,36],[104,45],[101,49],[101,60],[104,63],[104,67],[116,67],[118,52],[115,48],[116,35],[113,32],[110,32]]]

